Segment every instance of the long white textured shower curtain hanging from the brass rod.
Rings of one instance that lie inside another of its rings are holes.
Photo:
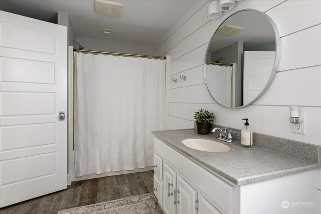
[[[165,60],[74,53],[75,174],[153,164],[165,129]]]

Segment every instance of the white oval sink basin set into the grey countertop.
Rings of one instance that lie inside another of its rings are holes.
[[[205,139],[191,138],[183,140],[182,143],[192,149],[206,152],[228,152],[231,150],[231,148],[225,144]]]

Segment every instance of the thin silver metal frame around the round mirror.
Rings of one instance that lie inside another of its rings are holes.
[[[266,82],[266,84],[264,85],[262,91],[259,93],[259,95],[257,95],[257,97],[255,97],[254,99],[252,99],[250,102],[248,103],[245,103],[243,104],[242,106],[238,106],[238,107],[227,107],[227,106],[224,106],[220,103],[218,103],[215,98],[212,96],[208,86],[207,86],[207,81],[206,81],[206,58],[207,58],[207,54],[208,54],[208,51],[209,51],[209,48],[210,48],[210,45],[211,45],[211,42],[214,38],[214,35],[215,33],[217,32],[217,30],[223,25],[223,23],[231,18],[234,14],[237,14],[237,13],[240,13],[242,11],[256,11],[258,13],[260,13],[262,16],[264,16],[271,24],[273,30],[274,30],[274,39],[275,39],[275,59],[274,59],[274,64],[273,64],[273,67],[272,67],[272,70],[271,70],[271,74],[270,74],[270,77],[268,79],[268,81]],[[267,16],[265,13],[261,12],[261,11],[258,11],[258,10],[254,10],[254,9],[243,9],[243,10],[239,10],[239,11],[236,11],[235,13],[231,14],[230,16],[228,16],[226,19],[224,19],[223,22],[221,22],[221,24],[219,24],[219,26],[216,28],[215,32],[213,33],[213,36],[211,37],[211,40],[209,42],[209,45],[207,46],[207,49],[206,49],[206,54],[205,54],[205,59],[204,59],[204,79],[205,79],[205,84],[206,84],[206,88],[209,92],[209,94],[211,95],[211,97],[214,99],[214,101],[221,105],[222,107],[224,107],[225,109],[241,109],[241,108],[244,108],[246,106],[249,106],[251,105],[252,103],[254,103],[255,101],[257,101],[266,91],[267,89],[270,87],[270,85],[272,84],[273,80],[274,80],[274,77],[277,73],[277,69],[279,67],[279,64],[280,64],[280,58],[281,58],[281,38],[280,38],[280,34],[279,34],[279,31],[274,23],[274,21],[269,17]]]

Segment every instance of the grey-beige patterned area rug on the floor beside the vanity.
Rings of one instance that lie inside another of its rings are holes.
[[[58,214],[70,213],[155,213],[163,214],[161,206],[158,205],[152,193],[136,195],[132,197],[121,198],[117,200],[95,203],[87,206],[74,207],[70,209],[60,210]]]

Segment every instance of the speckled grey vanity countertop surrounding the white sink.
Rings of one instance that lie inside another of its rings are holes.
[[[259,146],[243,148],[239,141],[232,143],[233,150],[223,153],[191,149],[182,143],[188,138],[217,140],[217,136],[198,135],[194,129],[153,131],[152,134],[185,156],[236,185],[268,180],[294,173],[320,168],[318,162],[300,160]]]

